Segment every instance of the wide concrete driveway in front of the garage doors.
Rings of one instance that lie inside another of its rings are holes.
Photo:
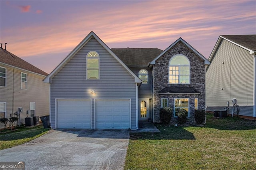
[[[26,170],[120,170],[128,140],[128,130],[50,130],[28,143],[0,150],[0,161],[24,161]]]

